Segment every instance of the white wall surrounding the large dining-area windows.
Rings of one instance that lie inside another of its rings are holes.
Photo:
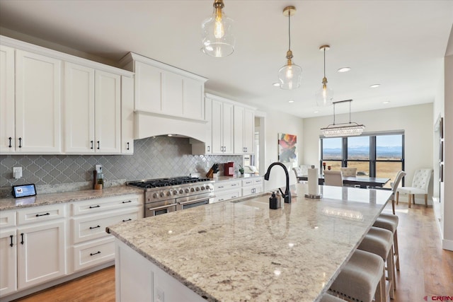
[[[336,119],[338,118],[340,121],[349,120],[348,115],[336,115]],[[432,168],[432,103],[353,112],[351,120],[365,124],[365,132],[404,130],[406,185],[412,183],[416,169]],[[319,166],[320,129],[331,123],[331,116],[304,119],[303,163]],[[432,194],[432,185],[430,185],[430,192]],[[401,200],[404,200],[403,198],[401,197]],[[419,195],[417,202],[424,204],[422,195]],[[430,199],[428,202],[430,202]]]

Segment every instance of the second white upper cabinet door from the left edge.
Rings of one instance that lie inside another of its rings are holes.
[[[62,61],[16,50],[16,152],[61,152]]]

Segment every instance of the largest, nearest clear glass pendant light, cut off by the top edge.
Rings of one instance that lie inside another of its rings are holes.
[[[214,13],[203,21],[202,52],[212,57],[226,57],[234,52],[235,37],[232,33],[233,19],[222,11],[223,0],[214,0]]]

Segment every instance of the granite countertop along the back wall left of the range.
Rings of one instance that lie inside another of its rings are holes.
[[[62,193],[37,194],[36,196],[32,197],[3,198],[0,199],[0,211],[136,193],[143,194],[143,190],[122,185],[116,187],[108,187],[103,190],[83,190]]]

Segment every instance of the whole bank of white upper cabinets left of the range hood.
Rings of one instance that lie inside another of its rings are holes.
[[[133,81],[130,71],[1,35],[0,42],[0,153],[121,153],[122,96],[134,98],[132,89],[122,93],[121,77]],[[131,153],[133,129],[125,135]]]

